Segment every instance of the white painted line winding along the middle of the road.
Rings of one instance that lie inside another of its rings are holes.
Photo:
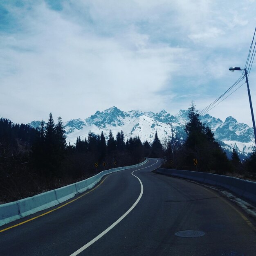
[[[158,162],[158,160],[157,160],[157,162]],[[157,162],[155,162],[154,164],[156,164]],[[153,166],[154,164],[151,164],[150,166]],[[150,167],[150,166],[147,166],[147,167],[144,167],[144,168],[140,168],[140,169],[135,170],[135,171],[139,171],[139,170],[148,168],[148,167]],[[141,186],[141,191],[140,191],[139,197],[137,198],[137,200],[135,201],[135,203],[132,204],[132,207],[130,207],[130,209],[129,209],[128,211],[126,211],[126,213],[124,213],[124,215],[121,216],[118,220],[116,220],[112,225],[110,225],[107,229],[105,229],[103,232],[101,232],[101,234],[99,234],[98,236],[96,236],[95,238],[93,238],[90,242],[88,242],[87,244],[85,244],[83,247],[81,247],[80,249],[78,249],[76,252],[70,254],[70,256],[76,256],[76,255],[78,255],[79,253],[83,252],[86,248],[88,248],[90,245],[92,245],[92,244],[95,243],[97,240],[99,240],[102,236],[104,236],[105,234],[107,234],[108,231],[110,231],[110,230],[111,230],[113,227],[115,227],[121,220],[123,220],[123,219],[132,211],[132,209],[138,204],[138,202],[139,202],[139,200],[141,199],[142,194],[143,194],[143,185],[142,185],[141,180],[140,180],[137,176],[135,176],[135,175],[133,174],[135,171],[133,171],[131,174],[139,180],[139,183],[140,183],[140,186]]]

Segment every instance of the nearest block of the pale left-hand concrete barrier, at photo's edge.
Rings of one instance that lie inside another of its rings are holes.
[[[18,202],[0,204],[0,226],[20,218]]]

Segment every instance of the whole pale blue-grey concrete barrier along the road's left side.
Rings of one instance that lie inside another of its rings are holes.
[[[121,170],[135,168],[145,164],[147,161],[148,160],[145,160],[140,164],[135,164],[132,166],[124,166],[105,170],[80,182],[76,182],[15,202],[0,204],[0,226],[69,200],[78,193],[83,193],[86,190],[94,187],[105,175]]]

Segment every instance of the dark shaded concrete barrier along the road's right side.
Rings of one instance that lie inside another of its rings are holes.
[[[256,203],[256,182],[241,180],[235,177],[218,175],[213,173],[203,173],[185,170],[172,170],[165,168],[157,168],[158,173],[182,177],[189,180],[195,180],[211,185],[221,186],[228,189],[239,196]]]

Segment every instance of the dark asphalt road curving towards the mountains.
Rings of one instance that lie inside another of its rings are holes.
[[[11,227],[0,255],[256,255],[254,220],[216,191],[152,172],[159,165],[112,173],[60,209],[0,227]],[[187,230],[197,236],[175,235]]]

